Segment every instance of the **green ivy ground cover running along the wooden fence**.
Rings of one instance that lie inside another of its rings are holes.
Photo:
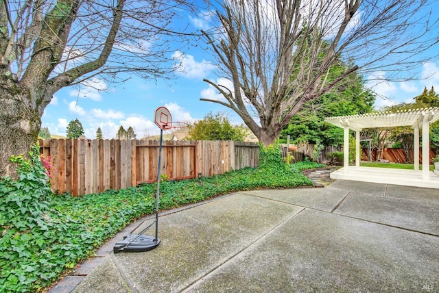
[[[155,211],[156,183],[81,197],[56,196],[38,157],[14,160],[21,166],[19,180],[0,179],[0,292],[43,291],[132,220]],[[204,177],[202,184],[198,179],[163,181],[160,209],[238,190],[311,186],[301,171],[321,166],[283,164],[273,150],[261,151],[260,164],[257,169]]]

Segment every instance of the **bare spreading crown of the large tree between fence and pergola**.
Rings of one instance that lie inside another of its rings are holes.
[[[403,80],[410,77],[399,72],[436,58],[419,54],[439,42],[429,9],[423,0],[222,1],[217,27],[202,32],[218,76],[231,85],[204,79],[222,99],[201,100],[235,111],[263,145],[272,144],[305,104],[351,73],[379,68]],[[331,73],[337,62],[348,66]]]

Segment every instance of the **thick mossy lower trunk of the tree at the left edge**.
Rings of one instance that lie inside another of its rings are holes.
[[[41,120],[31,93],[11,77],[0,78],[0,176],[16,176],[12,155],[25,155],[38,138]]]

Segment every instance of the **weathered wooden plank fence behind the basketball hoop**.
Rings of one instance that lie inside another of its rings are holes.
[[[51,156],[56,192],[73,196],[123,189],[157,179],[157,140],[40,140]],[[168,179],[210,177],[259,164],[259,144],[234,141],[165,141],[161,174]]]

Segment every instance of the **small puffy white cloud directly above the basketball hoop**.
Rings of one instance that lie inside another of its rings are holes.
[[[176,71],[185,77],[203,78],[215,69],[215,65],[210,62],[206,60],[197,62],[193,55],[185,55],[180,51],[175,51],[171,57],[180,61],[180,66],[177,66]]]

